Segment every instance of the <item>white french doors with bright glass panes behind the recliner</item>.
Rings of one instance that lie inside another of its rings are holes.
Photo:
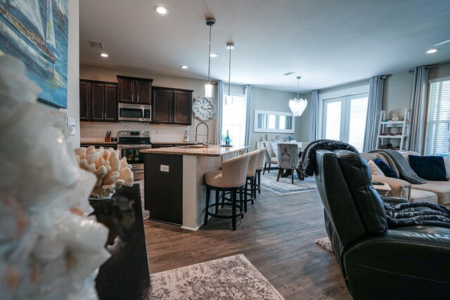
[[[367,105],[368,93],[324,99],[322,137],[349,143],[362,151]]]

